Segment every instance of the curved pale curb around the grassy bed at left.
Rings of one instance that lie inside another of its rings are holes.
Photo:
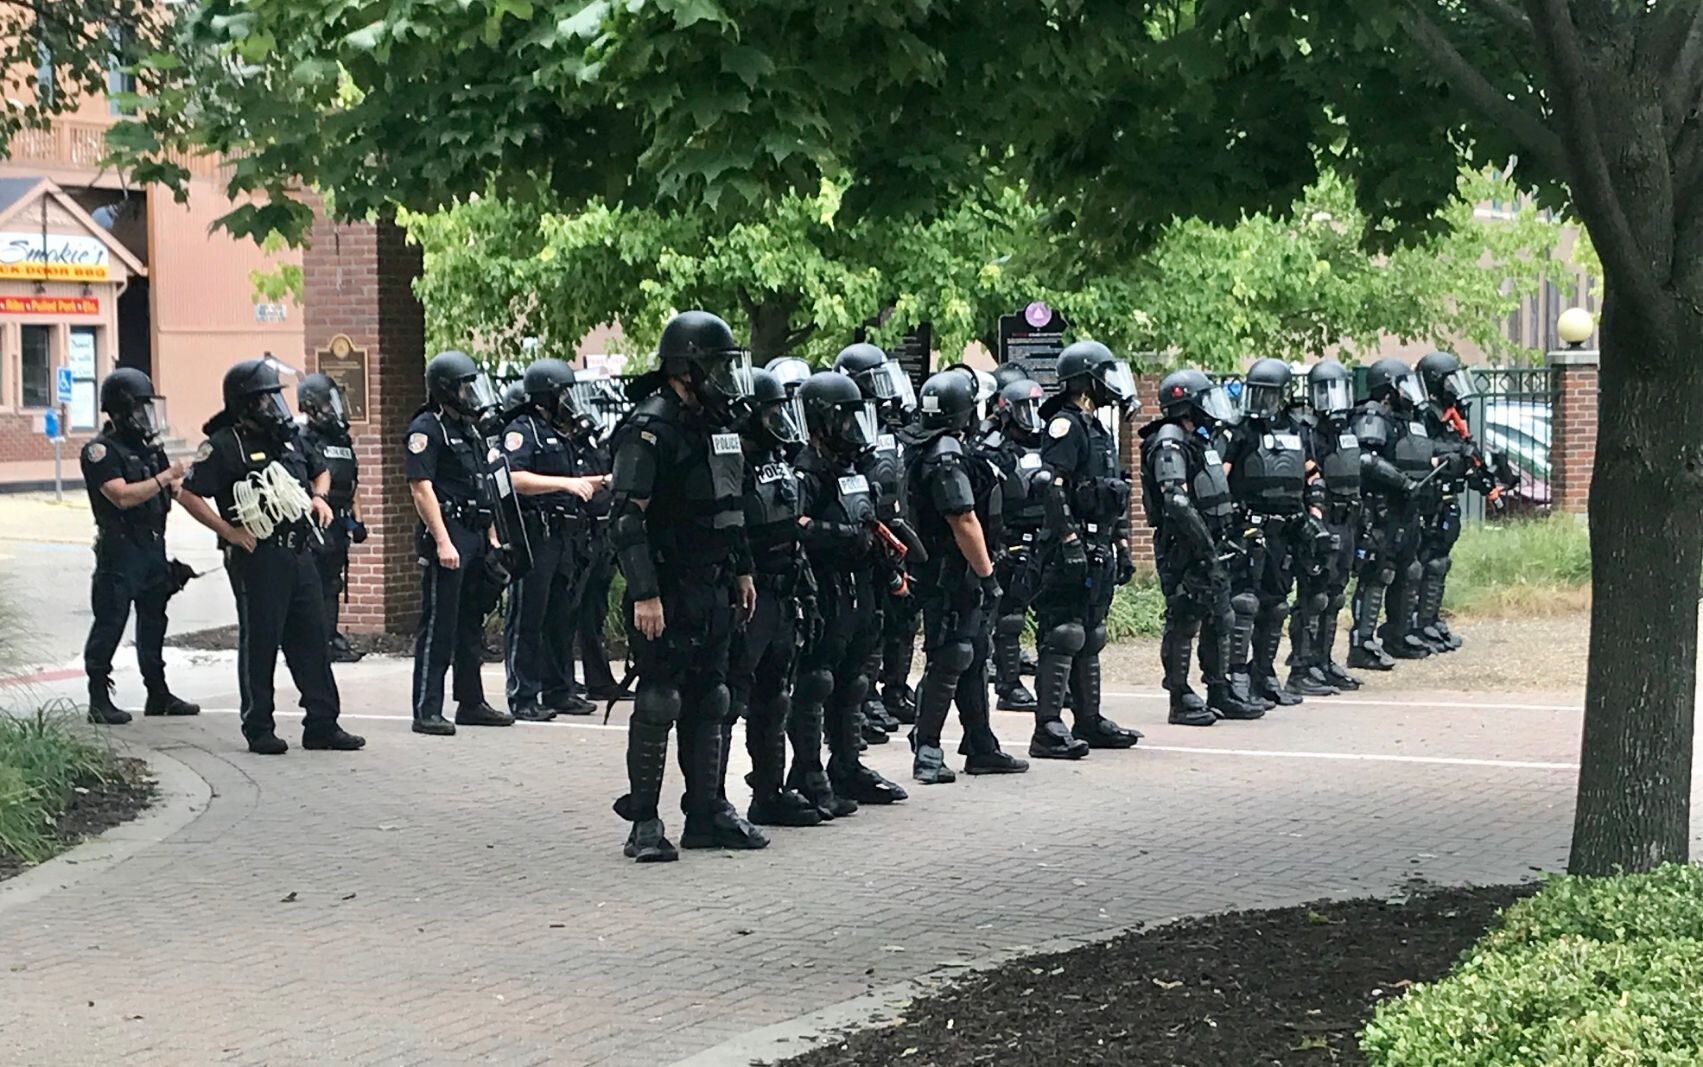
[[[136,819],[0,882],[0,914],[87,882],[165,841],[208,810],[213,786],[187,764],[152,749],[141,749],[136,756],[148,764],[148,773],[158,783],[153,805]]]

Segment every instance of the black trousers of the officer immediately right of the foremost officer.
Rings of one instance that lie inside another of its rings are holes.
[[[756,611],[734,633],[727,689],[729,718],[746,718],[751,788],[763,795],[778,790],[787,774],[787,693],[799,655],[799,628],[792,582],[770,573],[758,573],[754,580]]]

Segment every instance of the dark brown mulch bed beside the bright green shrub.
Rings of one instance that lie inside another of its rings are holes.
[[[1442,977],[1534,885],[1230,912],[1029,956],[788,1067],[1364,1064],[1379,1001]],[[1396,899],[1400,900],[1400,899]]]

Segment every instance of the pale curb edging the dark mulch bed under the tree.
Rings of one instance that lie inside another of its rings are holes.
[[[979,960],[940,965],[928,973],[872,989],[860,997],[840,1001],[838,1004],[829,1004],[828,1007],[794,1016],[771,1026],[749,1030],[720,1045],[676,1060],[669,1067],[751,1067],[753,1064],[768,1064],[804,1055],[814,1048],[833,1045],[852,1031],[892,1024],[903,1018],[911,1001],[938,992],[942,987],[978,972],[993,970],[1025,956],[1044,956],[1087,944],[1100,944],[1127,933],[1144,933],[1184,917],[1187,916],[1173,916],[1155,922],[1134,922],[1075,938],[1052,938],[1039,944],[1013,944],[1008,950]]]

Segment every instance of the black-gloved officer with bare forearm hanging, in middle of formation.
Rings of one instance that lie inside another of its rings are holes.
[[[1039,386],[1037,386],[1039,388]],[[1022,774],[1029,764],[1000,750],[988,722],[988,631],[1000,609],[989,543],[998,545],[1003,492],[998,470],[969,454],[962,436],[976,420],[976,395],[964,374],[942,371],[923,385],[911,446],[909,514],[928,551],[915,568],[923,606],[923,682],[911,733],[911,776],[949,783],[940,730],[954,701],[964,723],[966,774]]]

